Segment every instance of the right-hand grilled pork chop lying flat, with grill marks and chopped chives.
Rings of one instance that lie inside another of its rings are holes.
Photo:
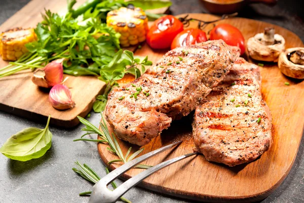
[[[260,82],[259,67],[238,58],[196,108],[195,151],[209,161],[235,166],[255,160],[270,148],[272,117],[262,99]]]

